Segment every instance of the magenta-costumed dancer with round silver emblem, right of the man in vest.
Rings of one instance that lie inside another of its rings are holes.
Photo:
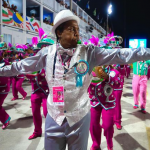
[[[105,68],[107,75],[105,75],[105,79],[103,78],[104,80],[101,81],[100,78],[97,77],[95,69],[92,72],[93,80],[88,89],[92,106],[90,133],[93,144],[90,150],[100,150],[102,128],[104,129],[107,148],[108,150],[112,150],[115,113],[115,96],[113,89],[118,88],[120,85],[119,72],[115,69],[107,67]],[[103,72],[103,74],[106,73]],[[100,125],[101,114],[103,121],[102,126]]]

